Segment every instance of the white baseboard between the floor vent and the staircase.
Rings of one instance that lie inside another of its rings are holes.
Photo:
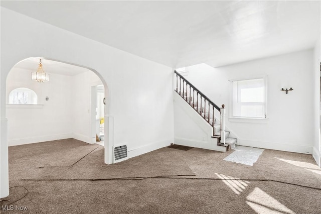
[[[130,148],[128,146],[128,158],[136,157],[138,155],[142,155],[147,152],[154,151],[156,149],[161,149],[163,147],[170,146],[171,143],[173,143],[173,140],[168,139],[168,140],[153,142],[137,148]]]

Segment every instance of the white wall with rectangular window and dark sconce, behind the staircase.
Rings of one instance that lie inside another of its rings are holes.
[[[301,51],[260,60],[212,68],[201,64],[188,68],[187,79],[217,105],[225,104],[226,126],[238,144],[312,154],[314,145],[313,51]],[[230,122],[230,79],[268,77],[267,118],[262,123]],[[288,94],[280,91],[293,87]]]

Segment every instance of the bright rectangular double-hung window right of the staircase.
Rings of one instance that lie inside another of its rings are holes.
[[[266,118],[266,78],[232,81],[231,116]]]

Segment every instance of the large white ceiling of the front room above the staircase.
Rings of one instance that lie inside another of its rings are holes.
[[[1,1],[1,6],[170,67],[313,48],[320,1]]]

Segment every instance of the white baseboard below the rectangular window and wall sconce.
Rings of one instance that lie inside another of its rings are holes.
[[[256,147],[256,148],[262,148],[262,149],[280,150],[285,152],[312,154],[312,146],[310,145],[293,145],[293,144],[286,144],[286,143],[254,141],[254,140],[245,140],[245,139],[238,139],[237,145]]]

